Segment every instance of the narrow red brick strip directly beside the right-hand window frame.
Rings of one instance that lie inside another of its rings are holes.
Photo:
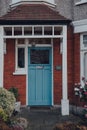
[[[74,34],[74,84],[80,82],[80,34]],[[74,105],[83,105],[79,96],[74,95]]]

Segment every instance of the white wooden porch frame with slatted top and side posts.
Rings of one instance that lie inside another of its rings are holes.
[[[15,31],[21,32],[20,35]],[[30,34],[25,35],[30,30]],[[40,34],[35,33],[35,29],[40,29]],[[49,29],[50,34],[46,34],[45,30]],[[8,33],[8,31],[10,33]],[[58,33],[57,33],[58,31]],[[60,32],[60,33],[59,33]],[[3,86],[3,46],[4,39],[17,38],[61,38],[62,39],[62,100],[61,113],[62,115],[69,115],[69,100],[68,100],[68,82],[67,82],[67,25],[4,25],[0,26],[0,87]],[[66,59],[66,60],[65,60]],[[66,107],[65,107],[66,106]]]

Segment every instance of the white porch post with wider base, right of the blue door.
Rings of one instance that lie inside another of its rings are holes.
[[[63,26],[61,106],[62,106],[61,108],[62,115],[69,115],[68,82],[67,82],[67,26]]]

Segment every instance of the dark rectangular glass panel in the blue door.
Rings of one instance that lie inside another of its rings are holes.
[[[49,50],[30,50],[30,64],[49,64]]]

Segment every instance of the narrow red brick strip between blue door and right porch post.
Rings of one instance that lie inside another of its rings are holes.
[[[60,104],[62,98],[62,71],[56,70],[56,66],[62,66],[62,55],[60,54],[60,41],[54,39],[54,104]]]

